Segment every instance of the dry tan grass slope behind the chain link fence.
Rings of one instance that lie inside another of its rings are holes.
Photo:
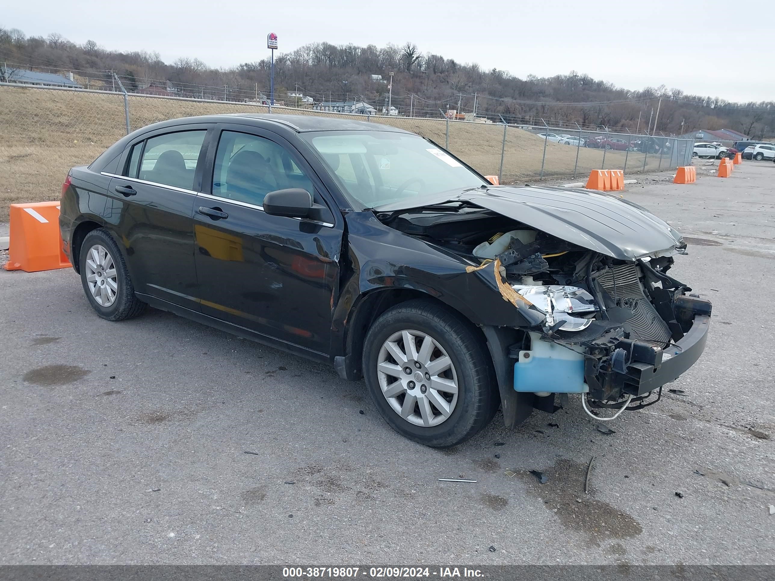
[[[166,119],[233,112],[265,113],[267,107],[129,97],[131,129]],[[304,109],[291,112],[314,114]],[[353,119],[352,115],[329,116]],[[370,120],[418,133],[441,146],[445,144],[443,120],[387,117]],[[91,163],[125,132],[122,95],[0,87],[0,221],[8,219],[9,204],[56,199],[70,167]],[[449,150],[483,174],[498,174],[502,142],[502,125],[449,123]],[[532,133],[508,128],[503,182],[539,177],[543,146],[543,139]],[[576,155],[575,147],[548,143],[544,176],[573,176]],[[590,170],[600,169],[602,159],[602,150],[581,148],[577,179],[583,180]],[[622,169],[624,164],[625,152],[606,152],[605,167]],[[650,155],[645,169],[656,170],[658,164],[659,156]],[[667,160],[663,160],[662,167],[667,167]],[[642,169],[643,155],[629,153],[626,172]]]

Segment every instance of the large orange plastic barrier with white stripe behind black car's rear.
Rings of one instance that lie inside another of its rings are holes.
[[[11,205],[10,260],[5,270],[39,270],[67,268],[59,233],[59,202]]]

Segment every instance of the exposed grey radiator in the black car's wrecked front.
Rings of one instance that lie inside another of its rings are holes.
[[[660,347],[670,342],[670,328],[643,292],[636,264],[612,266],[594,277],[618,307],[632,311],[632,318],[623,325],[630,339],[658,344]]]

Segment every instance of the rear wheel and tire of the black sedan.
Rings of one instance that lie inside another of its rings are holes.
[[[119,245],[107,230],[98,228],[86,235],[79,264],[84,293],[97,315],[123,321],[145,310],[146,304],[135,296]]]

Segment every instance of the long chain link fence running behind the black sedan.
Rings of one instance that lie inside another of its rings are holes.
[[[444,147],[501,183],[567,177],[583,180],[590,170],[625,174],[691,163],[693,142],[667,136],[571,131],[551,124],[508,125],[442,118],[352,115],[308,108],[270,108],[234,101],[207,101],[112,91],[0,83],[0,219],[8,205],[54,198],[70,167],[91,163],[127,132],[154,122],[222,113],[325,115],[384,123],[415,132]]]

